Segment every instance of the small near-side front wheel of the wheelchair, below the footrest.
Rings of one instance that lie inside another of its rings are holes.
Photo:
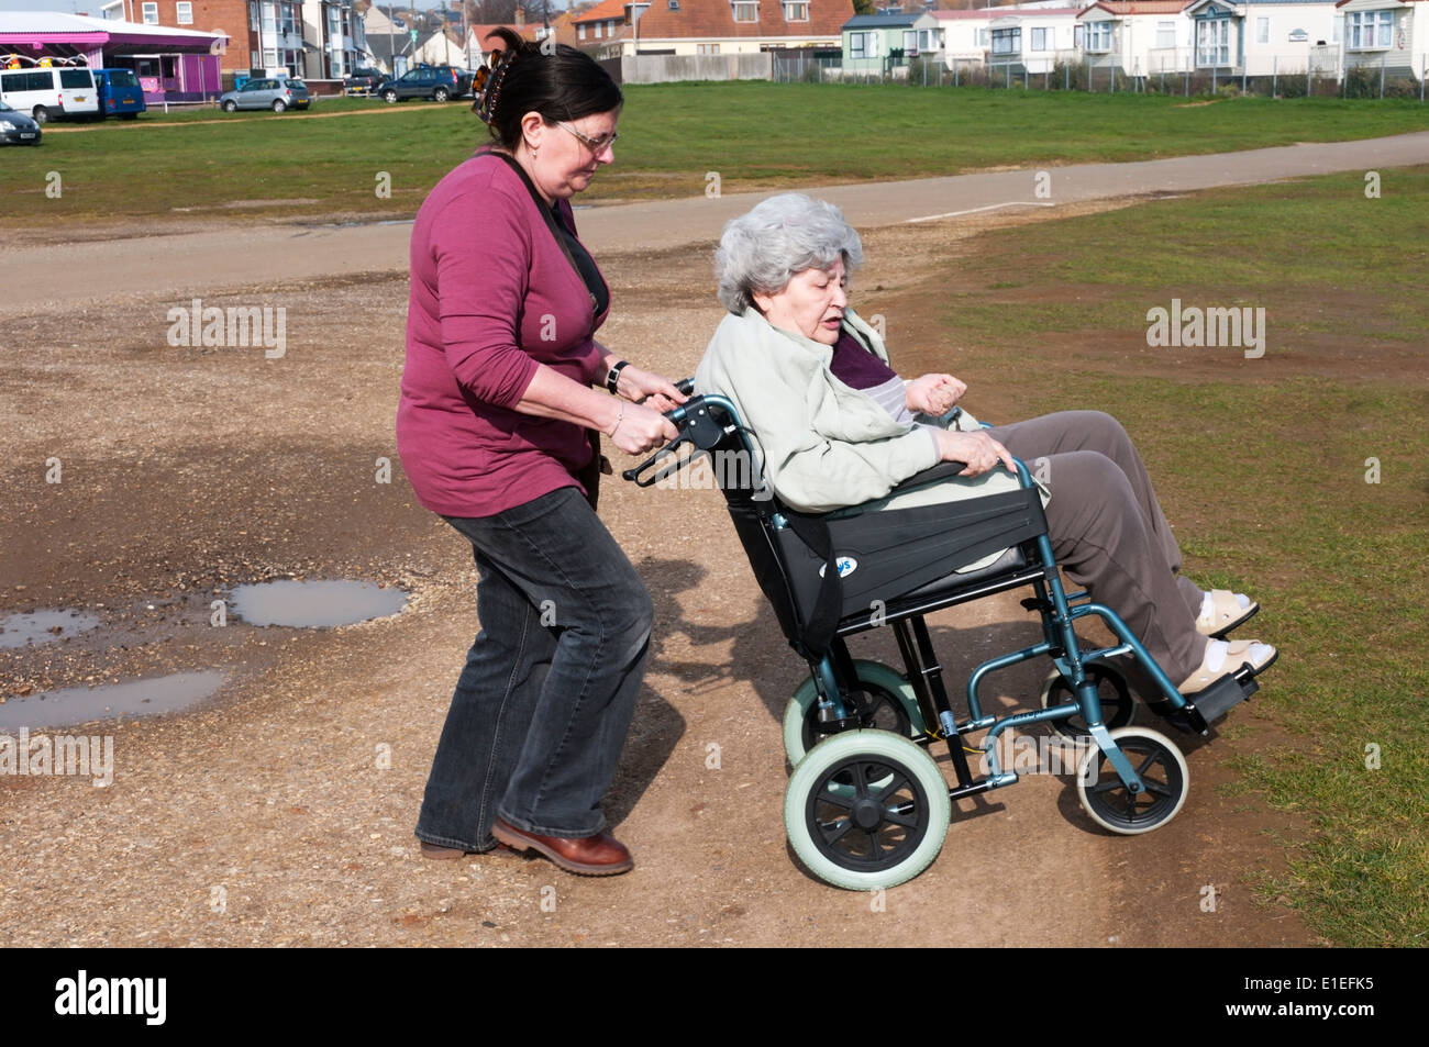
[[[1126,754],[1143,788],[1132,793],[1106,753],[1092,748],[1082,757],[1076,777],[1083,810],[1102,828],[1122,836],[1149,833],[1175,818],[1190,786],[1186,757],[1175,743],[1146,727],[1120,727],[1112,731],[1112,741]]]

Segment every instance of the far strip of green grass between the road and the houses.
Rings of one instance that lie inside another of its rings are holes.
[[[1186,104],[1140,94],[752,81],[630,86],[626,96],[617,161],[589,200],[699,196],[706,171],[719,171],[723,191],[735,193],[1429,129],[1429,107],[1403,100]],[[464,101],[389,107],[337,99],[310,113],[201,110],[80,131],[51,127],[39,149],[3,154],[0,227],[234,210],[297,220],[410,216],[484,140]],[[57,199],[44,191],[49,171],[61,176]],[[380,171],[390,174],[387,197],[374,191]]]

